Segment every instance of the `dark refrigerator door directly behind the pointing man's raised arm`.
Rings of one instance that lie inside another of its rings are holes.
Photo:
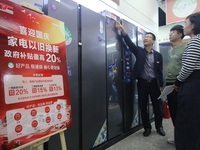
[[[122,20],[128,36],[136,44],[137,28],[134,24]],[[123,73],[124,73],[124,123],[125,131],[139,125],[139,108],[136,81],[130,80],[131,71],[135,65],[135,55],[129,50],[127,45],[123,43]],[[134,72],[133,72],[134,73]]]

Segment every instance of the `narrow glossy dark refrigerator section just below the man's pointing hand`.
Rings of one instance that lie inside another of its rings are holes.
[[[123,133],[123,76],[121,35],[115,20],[119,17],[108,11],[106,17],[106,67],[107,67],[107,124],[108,140]]]

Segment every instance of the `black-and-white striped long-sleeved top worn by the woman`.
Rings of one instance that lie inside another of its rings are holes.
[[[190,40],[182,57],[182,68],[177,77],[184,82],[194,70],[200,70],[200,34]]]

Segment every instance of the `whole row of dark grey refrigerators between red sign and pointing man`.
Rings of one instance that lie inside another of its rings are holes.
[[[95,149],[140,126],[137,81],[130,80],[136,59],[115,20],[122,22],[139,46],[143,46],[145,31],[107,11],[95,13],[72,0],[45,0],[43,11],[65,23],[73,118],[73,125],[65,132],[67,148]],[[61,149],[59,137],[51,137],[45,147]]]

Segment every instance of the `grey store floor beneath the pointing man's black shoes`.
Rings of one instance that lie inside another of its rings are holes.
[[[148,137],[142,135],[144,129],[141,129],[106,150],[175,150],[175,144],[167,143],[167,139],[173,135],[171,119],[163,119],[163,127],[165,136],[156,132],[153,122],[151,134]]]

